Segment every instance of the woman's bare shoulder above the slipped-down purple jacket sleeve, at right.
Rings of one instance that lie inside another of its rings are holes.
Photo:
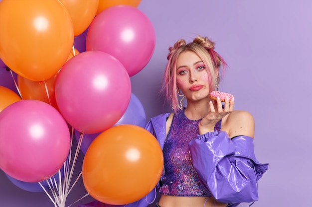
[[[254,138],[255,120],[247,111],[234,110],[228,115],[225,124],[230,138],[242,135]]]

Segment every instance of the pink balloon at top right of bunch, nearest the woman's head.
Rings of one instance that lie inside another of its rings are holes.
[[[130,77],[149,63],[155,44],[152,22],[138,8],[129,5],[103,10],[90,24],[86,37],[87,51],[111,54],[125,66]]]

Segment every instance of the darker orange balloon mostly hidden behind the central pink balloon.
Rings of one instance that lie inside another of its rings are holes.
[[[78,55],[79,51],[74,49],[72,50],[67,61]],[[43,101],[50,104],[55,109],[59,110],[55,100],[55,81],[59,71],[54,74],[51,78],[45,81],[33,81],[27,78],[24,78],[20,75],[17,75],[17,85],[21,94],[21,97],[25,99],[35,99]]]

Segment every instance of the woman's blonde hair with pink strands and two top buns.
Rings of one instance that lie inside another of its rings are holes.
[[[220,66],[224,69],[226,63],[222,57],[214,51],[214,42],[207,37],[198,36],[192,42],[186,44],[185,40],[180,39],[174,43],[173,47],[169,47],[167,56],[168,63],[163,75],[163,85],[161,91],[165,93],[167,101],[172,104],[174,111],[178,110],[178,95],[176,85],[176,61],[178,56],[185,51],[196,53],[203,61],[209,77],[209,87],[215,88],[219,83]]]

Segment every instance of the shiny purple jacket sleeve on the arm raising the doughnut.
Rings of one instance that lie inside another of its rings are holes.
[[[256,159],[253,138],[209,132],[191,140],[189,148],[200,181],[218,202],[258,201],[258,180],[268,164]]]

